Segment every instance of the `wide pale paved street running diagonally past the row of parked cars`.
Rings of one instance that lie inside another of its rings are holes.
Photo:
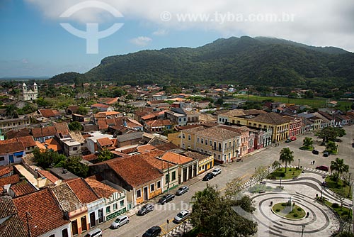
[[[291,143],[279,143],[279,146],[272,146],[269,148],[263,148],[261,150],[257,150],[250,155],[247,155],[242,162],[232,162],[227,165],[222,165],[222,173],[210,180],[209,183],[211,185],[217,185],[219,189],[222,189],[229,180],[232,180],[234,177],[242,177],[244,181],[249,180],[249,177],[253,174],[256,167],[259,166],[268,166],[273,161],[279,160],[280,150],[284,147],[289,147],[294,151],[295,160],[292,165],[298,165],[300,159],[300,165],[304,167],[314,168],[317,165],[330,165],[331,160],[335,160],[337,157],[343,158],[347,164],[350,165],[350,171],[354,171],[354,160],[353,160],[353,150],[351,147],[351,143],[353,142],[354,126],[346,126],[347,135],[342,138],[343,142],[340,143],[339,153],[338,155],[330,155],[328,158],[324,158],[321,155],[321,152],[324,150],[324,147],[320,147],[320,140],[314,138],[312,133],[304,134],[302,136],[298,136],[297,140]],[[319,150],[319,155],[313,155],[309,151],[299,150],[299,147],[302,146],[302,140],[305,136],[313,137],[316,140],[314,144],[316,150]],[[318,142],[317,142],[318,141]],[[315,160],[315,165],[311,165],[310,163]],[[353,172],[354,173],[354,172]],[[151,226],[161,226],[164,233],[167,233],[169,230],[174,228],[176,224],[173,224],[173,217],[178,214],[178,211],[182,209],[191,209],[190,200],[193,194],[197,191],[200,191],[206,187],[207,182],[203,182],[202,176],[195,177],[190,182],[194,182],[194,184],[190,185],[190,191],[183,194],[182,196],[176,196],[173,202],[169,204],[165,204],[164,206],[155,205],[155,210],[150,212],[145,216],[130,216],[130,223],[118,228],[116,230],[110,230],[108,227],[112,221],[108,221],[107,223],[101,224],[99,226],[102,228],[103,236],[111,237],[111,236],[142,236],[144,231]],[[188,183],[186,185],[189,185]],[[176,191],[176,190],[173,190]],[[152,200],[152,203],[156,203],[158,199]],[[166,220],[169,220],[170,223],[166,224]],[[183,225],[183,224],[182,224]],[[181,228],[181,226],[179,227]],[[183,228],[181,228],[183,229]]]

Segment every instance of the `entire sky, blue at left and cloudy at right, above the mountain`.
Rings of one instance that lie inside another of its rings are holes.
[[[52,77],[110,55],[241,35],[354,52],[354,1],[0,0],[0,30],[0,77]]]

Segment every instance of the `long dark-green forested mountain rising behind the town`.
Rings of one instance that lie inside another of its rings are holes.
[[[72,75],[71,75],[72,76]],[[52,82],[69,79],[66,74]],[[70,77],[73,81],[76,77]],[[84,81],[118,84],[232,83],[274,87],[353,87],[354,54],[275,38],[218,39],[199,48],[143,50],[105,57]],[[77,79],[76,79],[77,81]]]

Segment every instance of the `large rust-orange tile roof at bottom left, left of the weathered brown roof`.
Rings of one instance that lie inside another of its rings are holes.
[[[28,223],[33,236],[41,236],[60,226],[67,226],[69,221],[63,219],[62,210],[48,189],[13,199],[18,215],[23,223],[27,223],[26,213],[29,213]],[[26,225],[25,229],[27,231]]]

